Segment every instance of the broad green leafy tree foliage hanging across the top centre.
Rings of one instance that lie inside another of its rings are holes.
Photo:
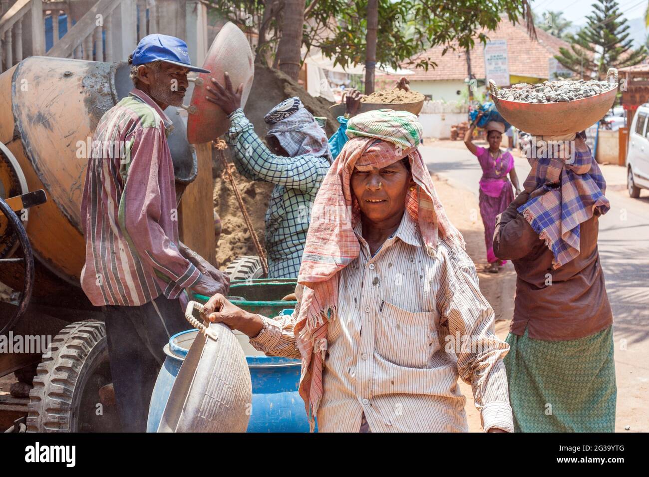
[[[247,32],[263,32],[258,58],[274,56],[281,36],[283,0],[211,0],[215,14],[234,21]],[[379,0],[376,62],[398,67],[403,62],[428,68],[429,58],[411,58],[435,45],[448,49],[485,43],[504,14],[508,21],[525,21],[534,35],[532,10],[527,0]],[[269,14],[271,12],[271,14]],[[308,0],[302,45],[319,48],[336,64],[365,62],[367,0]]]

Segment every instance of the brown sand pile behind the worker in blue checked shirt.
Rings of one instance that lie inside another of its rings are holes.
[[[263,121],[263,116],[275,104],[284,101],[291,96],[299,96],[304,103],[304,107],[309,110],[313,116],[323,116],[327,118],[326,133],[330,136],[336,132],[339,124],[328,110],[333,103],[321,98],[314,98],[304,90],[297,82],[291,80],[281,71],[255,64],[254,82],[252,90],[245,105],[244,112],[248,119],[252,121],[254,130],[260,136],[265,137],[268,130],[267,124]],[[225,156],[230,162],[232,175],[238,184],[241,197],[251,217],[254,229],[257,232],[262,245],[265,241],[265,225],[263,217],[268,208],[273,184],[268,182],[258,182],[248,180],[239,175],[231,164],[230,149],[225,150]],[[221,237],[216,246],[216,257],[221,270],[230,263],[234,258],[241,255],[256,255],[250,234],[239,210],[239,204],[234,197],[232,186],[228,180],[221,177],[223,165],[215,149],[212,150],[212,175],[214,177],[214,210],[221,218]]]

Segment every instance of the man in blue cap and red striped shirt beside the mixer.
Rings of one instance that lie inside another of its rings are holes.
[[[135,88],[99,121],[82,197],[81,286],[105,313],[108,356],[125,431],[146,429],[163,347],[188,328],[188,291],[227,293],[229,280],[178,240],[167,135],[191,66],[185,42],[153,34],[129,56]]]

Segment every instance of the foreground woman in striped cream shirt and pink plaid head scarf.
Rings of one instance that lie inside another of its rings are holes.
[[[508,346],[417,151],[421,125],[379,110],[350,119],[347,135],[313,204],[293,315],[215,295],[209,319],[302,360],[299,391],[320,432],[467,431],[458,377],[484,429],[511,430]]]

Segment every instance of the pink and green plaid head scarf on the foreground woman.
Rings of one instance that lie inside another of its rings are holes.
[[[338,274],[360,254],[354,234],[360,206],[350,186],[354,169],[386,167],[408,157],[417,187],[408,191],[404,206],[418,225],[426,251],[433,254],[438,239],[451,247],[464,248],[464,239],[448,221],[417,151],[421,132],[417,117],[404,111],[378,110],[352,117],[347,125],[350,140],[329,168],[313,203],[295,289],[298,303],[294,328],[302,356],[299,393],[312,430],[323,394],[328,321],[336,317]]]

